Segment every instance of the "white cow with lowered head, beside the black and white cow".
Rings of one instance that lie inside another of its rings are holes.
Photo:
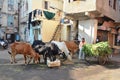
[[[58,48],[65,53],[65,55],[67,56],[67,59],[72,61],[72,57],[70,55],[70,51],[68,50],[65,42],[51,41],[51,43],[56,44],[58,46]]]

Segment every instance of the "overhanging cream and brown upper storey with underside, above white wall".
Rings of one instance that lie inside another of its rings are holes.
[[[67,2],[64,1],[63,10],[72,16],[75,14],[75,18],[83,15],[84,18],[88,17],[109,17],[112,20],[119,21],[120,12],[118,8],[116,10],[109,6],[109,0],[80,0]],[[116,3],[116,7],[118,7]]]

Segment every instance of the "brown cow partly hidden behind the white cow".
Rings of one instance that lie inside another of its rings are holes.
[[[73,56],[79,50],[79,41],[64,41],[68,50],[71,52],[71,56]]]

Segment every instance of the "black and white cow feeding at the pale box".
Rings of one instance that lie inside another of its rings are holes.
[[[47,61],[47,57],[51,61],[56,60],[56,55],[62,55],[63,58],[66,59],[65,53],[62,52],[54,43],[44,43],[40,40],[35,40],[32,47],[37,53],[39,53],[39,55],[43,55],[45,63]]]

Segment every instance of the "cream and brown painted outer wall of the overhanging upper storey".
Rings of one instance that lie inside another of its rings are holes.
[[[111,6],[109,5],[109,0],[79,0],[72,2],[68,2],[68,1],[69,0],[64,0],[64,7],[63,7],[63,10],[67,13],[96,11],[97,13],[102,13],[102,15],[107,16],[115,21],[120,21],[119,0],[116,0],[116,9],[113,9],[113,4],[115,0],[111,0]]]

